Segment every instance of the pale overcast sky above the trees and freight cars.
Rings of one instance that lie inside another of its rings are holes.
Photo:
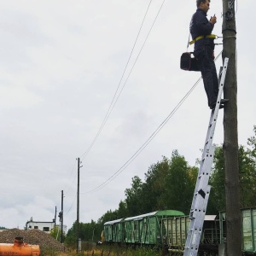
[[[1,1],[0,226],[51,221],[63,190],[70,229],[78,158],[83,223],[117,209],[131,178],[144,181],[148,167],[173,150],[195,166],[211,113],[202,81],[120,169],[201,78],[179,68],[195,9],[194,0]],[[222,9],[221,0],[211,1],[219,37]],[[238,139],[245,146],[256,125],[252,9],[255,1],[236,1]],[[223,143],[223,129],[221,110],[213,143]]]

